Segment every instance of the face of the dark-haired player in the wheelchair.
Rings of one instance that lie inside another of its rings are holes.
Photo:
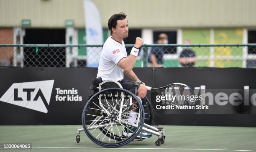
[[[113,29],[113,33],[118,35],[121,38],[128,37],[128,22],[127,20],[118,20],[116,24],[116,28]]]

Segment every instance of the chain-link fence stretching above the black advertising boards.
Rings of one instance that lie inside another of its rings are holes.
[[[126,45],[130,54],[133,45]],[[0,66],[97,67],[102,45],[0,44]],[[110,50],[111,51],[111,50]],[[256,68],[256,44],[143,45],[135,67]]]

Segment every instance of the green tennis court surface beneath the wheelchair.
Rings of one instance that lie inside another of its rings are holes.
[[[81,132],[80,125],[0,126],[0,143],[31,143],[32,149],[0,149],[0,151],[28,152],[256,152],[255,127],[166,126],[165,143],[155,146],[156,136],[133,141],[119,148],[104,148],[93,143]]]

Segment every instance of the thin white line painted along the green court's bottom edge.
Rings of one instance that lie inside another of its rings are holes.
[[[256,150],[236,150],[236,149],[193,149],[193,148],[93,148],[93,147],[32,147],[32,149],[158,149],[158,150],[222,150],[237,152],[256,152]]]

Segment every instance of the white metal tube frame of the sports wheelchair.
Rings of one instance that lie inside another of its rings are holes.
[[[99,87],[97,87],[97,89],[99,89],[99,92],[100,91],[104,91],[105,89],[102,89],[102,85],[103,84],[105,84],[105,83],[109,83],[109,82],[112,82],[112,83],[114,83],[114,84],[116,84],[116,85],[118,85],[118,87],[119,88],[121,88],[121,89],[123,89],[123,87],[121,86],[121,84],[118,82],[118,81],[113,81],[113,80],[108,80],[108,81],[103,81],[103,82],[101,82],[100,84],[99,84]],[[108,89],[111,89],[111,88],[108,88]],[[114,88],[113,88],[114,89]],[[147,87],[147,89],[148,90],[150,90],[150,87]],[[105,109],[105,107],[102,105],[102,103],[101,103],[101,96],[102,95],[100,95],[98,98],[99,98],[99,104],[100,104],[100,107],[104,110],[104,112],[106,113],[106,114],[108,114],[108,117],[110,117],[110,112],[107,110],[107,109]],[[121,94],[121,96],[122,96],[122,94]],[[141,99],[138,97],[138,96],[136,96],[137,97],[137,99],[139,99],[139,101],[142,103],[142,101],[141,101]],[[135,124],[132,124],[132,123],[130,123],[130,122],[127,122],[127,121],[122,121],[121,120],[121,112],[122,112],[122,108],[123,108],[123,97],[121,97],[122,98],[122,100],[121,100],[121,104],[120,104],[120,110],[118,111],[119,112],[119,115],[118,115],[118,118],[117,118],[117,120],[118,121],[120,121],[120,122],[122,122],[123,124],[127,124],[127,125],[129,125],[129,126],[132,126],[132,127],[140,127],[140,126],[138,126],[138,120],[137,120],[137,122],[135,123]],[[132,103],[132,99],[130,98],[129,99],[130,101],[130,104]],[[103,112],[103,111],[102,111]],[[101,113],[102,113],[101,112]],[[144,114],[144,112],[143,112],[143,114]],[[140,117],[140,114],[138,114],[138,117]],[[95,120],[93,120],[93,122],[89,125],[89,127],[90,128],[87,128],[88,130],[90,130],[90,129],[95,129],[95,126],[94,126],[94,124],[96,124],[97,122],[98,122],[98,120],[100,119],[100,116],[97,116],[96,118],[95,118]],[[153,126],[151,126],[151,125],[148,125],[148,124],[146,124],[146,123],[142,123],[143,124],[143,127],[141,128],[141,130],[143,130],[143,131],[146,131],[146,132],[149,132],[149,133],[151,133],[151,134],[154,134],[154,135],[156,135],[156,136],[158,136],[158,139],[156,140],[156,142],[155,142],[155,144],[156,144],[156,146],[160,146],[161,144],[164,144],[164,139],[165,139],[165,130],[164,129],[158,129],[158,128],[156,128],[156,127],[153,127]],[[106,124],[105,125],[100,125],[100,126],[97,126],[97,127],[106,127]],[[97,128],[96,127],[96,128]],[[141,130],[138,130],[138,132],[141,132]],[[77,127],[77,136],[76,136],[76,141],[77,141],[77,143],[79,143],[80,142],[80,132],[83,132],[84,131],[84,128],[80,128],[80,127]],[[142,141],[143,139],[140,137],[140,139],[137,139],[137,138],[135,138],[135,139],[133,139],[133,140],[139,140],[139,141]]]

